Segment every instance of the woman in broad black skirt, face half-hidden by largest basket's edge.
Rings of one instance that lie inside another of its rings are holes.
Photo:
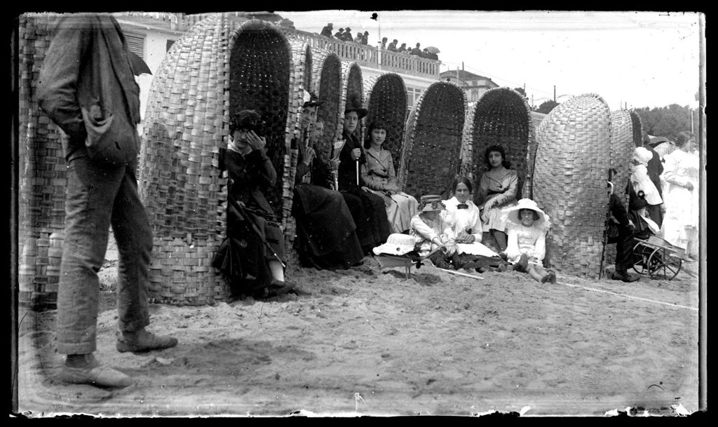
[[[324,122],[315,123],[320,104],[322,101],[316,95],[309,94],[299,119],[301,134],[309,129],[309,141],[306,146],[298,144],[301,156],[292,202],[292,216],[297,220],[294,247],[304,266],[348,268],[360,264],[364,255],[349,207],[342,194],[331,189],[332,170],[337,169],[339,162],[325,159],[321,151],[313,148],[324,136]],[[310,177],[308,182],[305,177]]]

